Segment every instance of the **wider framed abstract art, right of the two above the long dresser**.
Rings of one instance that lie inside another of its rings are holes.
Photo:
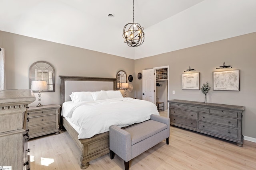
[[[239,91],[239,70],[214,71],[213,90]]]

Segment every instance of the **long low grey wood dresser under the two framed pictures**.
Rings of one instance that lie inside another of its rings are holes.
[[[244,106],[168,100],[170,125],[183,127],[243,145]]]

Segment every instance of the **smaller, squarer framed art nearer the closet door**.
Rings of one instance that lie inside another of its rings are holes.
[[[181,77],[181,89],[200,90],[200,72],[183,73]]]

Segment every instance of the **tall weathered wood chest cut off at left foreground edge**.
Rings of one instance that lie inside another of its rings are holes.
[[[29,170],[27,107],[36,100],[32,90],[0,91],[0,166]]]

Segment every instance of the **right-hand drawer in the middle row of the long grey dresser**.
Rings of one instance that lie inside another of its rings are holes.
[[[230,117],[222,117],[218,115],[209,115],[204,113],[199,113],[198,120],[206,121],[218,125],[224,125],[228,127],[237,127],[237,119],[230,118]]]

